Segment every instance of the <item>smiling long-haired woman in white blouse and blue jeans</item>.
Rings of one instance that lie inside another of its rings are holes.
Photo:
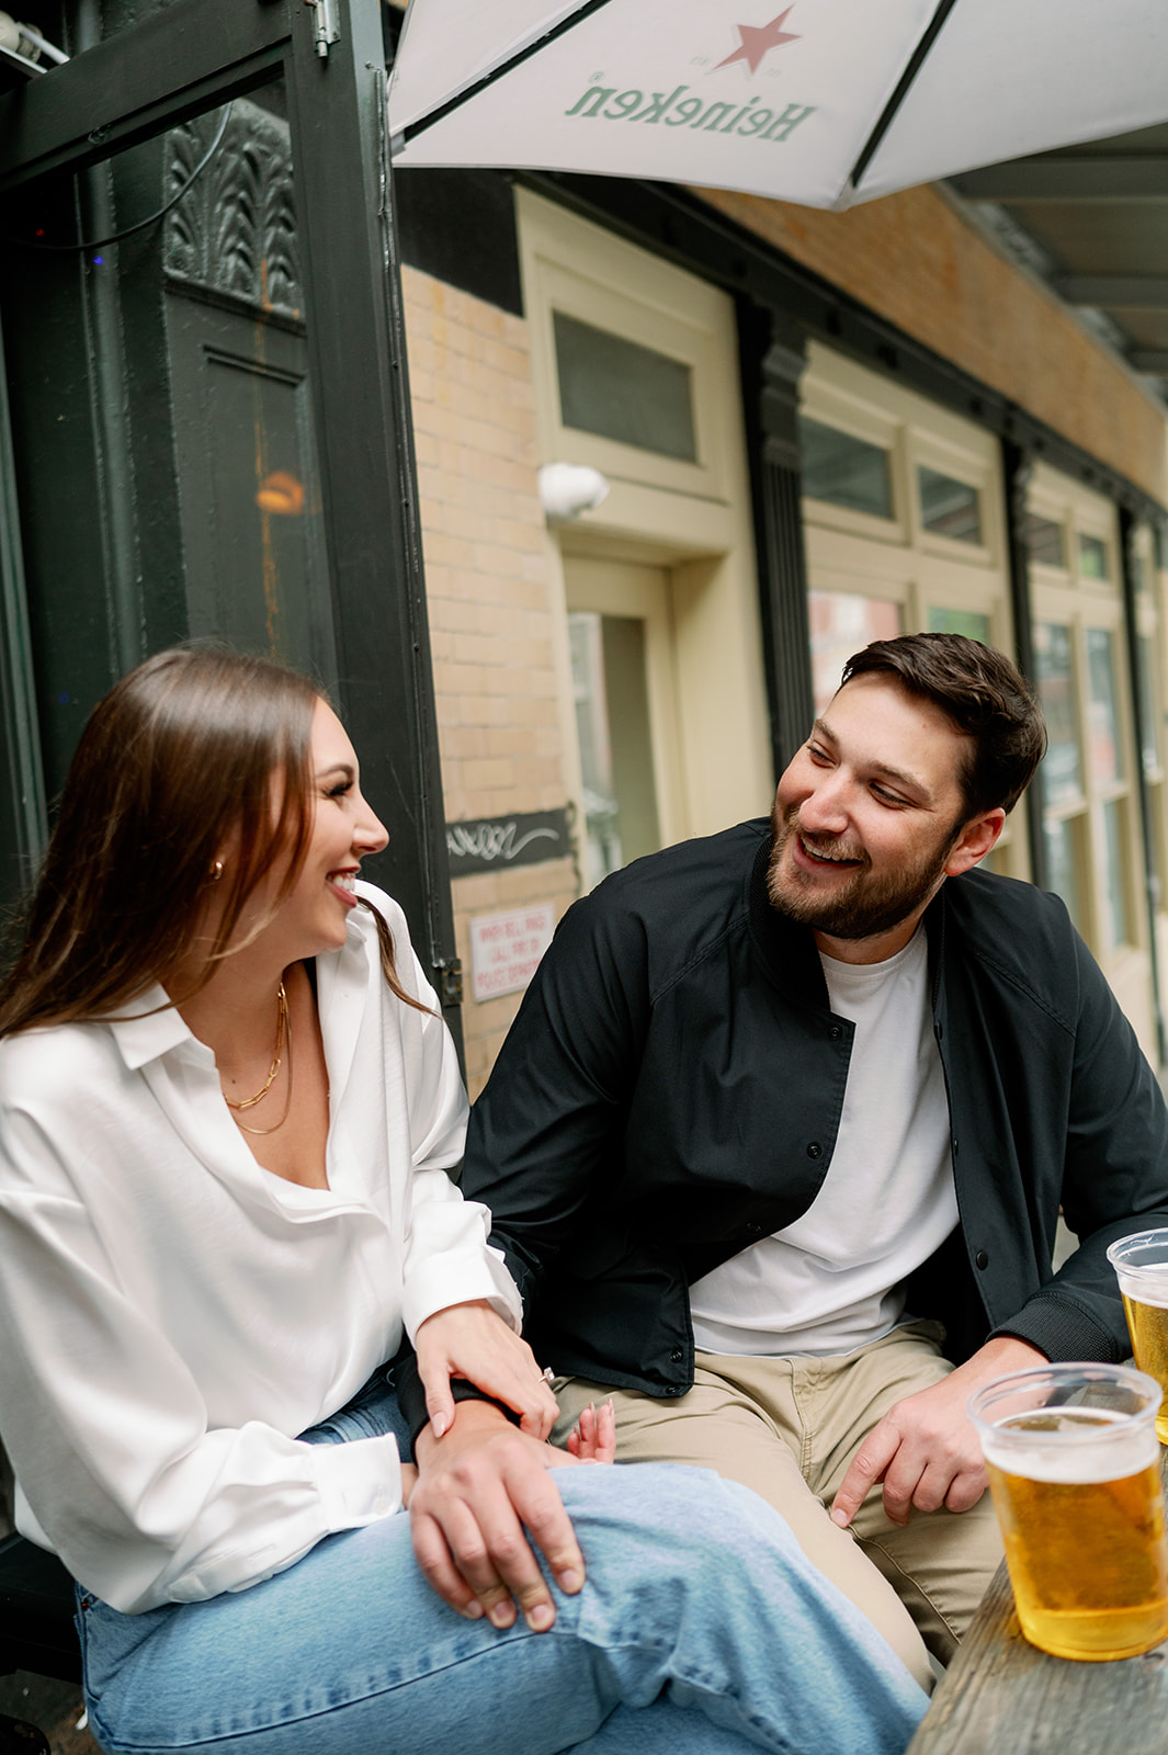
[[[761,1501],[542,1443],[384,844],[328,704],[219,649],[123,679],[65,786],[0,990],[0,1434],[98,1739],[901,1748],[919,1690]]]

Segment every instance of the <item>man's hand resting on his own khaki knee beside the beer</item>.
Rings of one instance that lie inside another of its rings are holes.
[[[968,1397],[1005,1371],[1045,1365],[1045,1353],[1014,1336],[987,1341],[940,1383],[907,1395],[863,1441],[831,1502],[831,1520],[847,1527],[875,1481],[884,1481],[884,1511],[907,1523],[908,1509],[968,1511],[986,1492],[986,1464]]]

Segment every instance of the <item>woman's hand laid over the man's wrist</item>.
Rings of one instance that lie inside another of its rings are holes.
[[[559,1413],[556,1397],[528,1343],[486,1299],[435,1311],[419,1327],[414,1351],[435,1437],[444,1437],[454,1420],[451,1378],[466,1378],[484,1395],[514,1409],[519,1429],[531,1437],[544,1439],[551,1432]]]

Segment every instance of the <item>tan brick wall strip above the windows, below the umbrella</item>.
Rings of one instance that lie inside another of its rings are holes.
[[[1168,493],[1163,411],[937,190],[905,190],[844,214],[728,190],[694,193],[1154,498]]]

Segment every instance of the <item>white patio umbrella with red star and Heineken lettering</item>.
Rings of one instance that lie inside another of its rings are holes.
[[[410,0],[400,165],[849,207],[1168,119],[1168,0]]]

